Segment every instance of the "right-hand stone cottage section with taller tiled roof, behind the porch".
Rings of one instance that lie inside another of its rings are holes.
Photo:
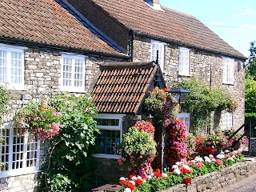
[[[238,102],[238,109],[234,114],[224,113],[221,117],[214,117],[212,122],[218,122],[214,127],[226,130],[243,124],[243,63],[246,57],[193,15],[162,6],[158,0],[61,2],[74,10],[74,13],[81,14],[118,44],[124,53],[130,55],[132,62],[155,61],[158,50],[159,66],[168,89],[174,83],[196,76],[209,86],[222,86],[229,90]],[[109,111],[102,111],[101,115],[106,117],[110,114]],[[184,111],[178,117],[186,122],[189,130],[190,111]],[[103,129],[101,125],[98,127]],[[112,130],[114,127],[104,129]],[[103,163],[105,170],[110,170],[107,167],[112,168],[114,163],[110,161],[118,158],[118,155],[108,155],[105,151],[96,157]],[[119,176],[117,173],[114,170],[116,178]]]

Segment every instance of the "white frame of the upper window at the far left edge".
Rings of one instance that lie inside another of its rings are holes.
[[[6,44],[2,44],[0,43],[0,50],[6,50],[6,82],[0,82],[0,84],[2,86],[7,86],[10,90],[24,90],[24,50],[26,50],[27,47],[25,46],[10,46],[10,45],[6,45]],[[11,69],[10,69],[10,62],[11,62],[11,58],[10,58],[10,54],[11,52],[18,52],[21,54],[21,67],[20,69],[21,71],[21,83],[11,83],[10,82],[10,74],[11,74]]]

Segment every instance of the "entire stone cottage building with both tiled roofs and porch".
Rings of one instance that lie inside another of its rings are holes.
[[[0,155],[2,162],[7,163],[0,175],[1,191],[33,191],[44,155],[42,143],[21,134],[22,128],[12,121],[19,107],[58,91],[88,92],[99,77],[93,90],[96,99],[97,86],[108,70],[122,74],[127,81],[128,71],[136,74],[136,70],[145,70],[150,75],[138,74],[135,82],[150,90],[158,70],[152,62],[157,50],[161,68],[158,71],[162,71],[162,82],[166,82],[167,88],[193,75],[210,86],[224,86],[237,96],[239,107],[234,114],[223,115],[223,129],[243,122],[242,62],[246,58],[191,15],[161,6],[158,1],[143,0],[4,0],[0,5],[0,82],[9,86],[14,109],[6,116],[0,134],[5,139]],[[118,63],[113,66],[106,62]],[[106,74],[105,79],[116,78]],[[142,85],[139,79],[146,79],[146,84]],[[98,128],[114,133],[116,145],[122,139],[123,128],[136,120],[127,114],[141,110],[146,90],[136,92],[138,98],[130,100],[137,108],[123,106],[127,101],[122,97],[118,98],[122,102],[118,110],[98,106]],[[99,103],[101,100],[98,98]],[[179,115],[189,126],[189,112]],[[94,156],[106,171],[119,158],[108,150]],[[102,174],[102,170],[97,171]],[[108,181],[116,181],[122,171],[118,168]]]

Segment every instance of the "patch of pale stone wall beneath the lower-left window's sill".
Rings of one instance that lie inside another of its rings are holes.
[[[37,174],[24,174],[10,178],[0,178],[1,192],[35,192]]]

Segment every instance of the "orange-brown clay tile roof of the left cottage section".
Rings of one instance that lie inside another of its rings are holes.
[[[54,0],[0,1],[0,37],[121,55]]]

